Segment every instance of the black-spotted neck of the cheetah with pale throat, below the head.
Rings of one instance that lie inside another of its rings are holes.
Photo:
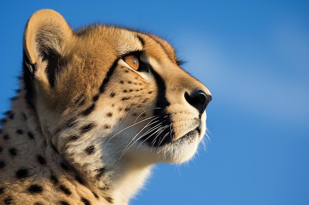
[[[62,204],[80,199],[91,205],[128,204],[129,199],[143,186],[151,166],[134,161],[119,164],[108,177],[106,183],[109,186],[106,189],[93,186],[85,177],[77,174],[75,168],[46,138],[36,110],[24,97],[25,90],[22,90],[14,98],[12,110],[2,120],[0,148],[3,153],[0,153],[0,163],[4,166],[1,168],[4,172],[0,172],[0,184],[7,184],[6,190],[10,190],[5,194],[14,198],[14,195],[27,189],[32,191],[29,194],[36,194],[36,199],[46,204],[55,203],[53,200],[61,201],[60,198],[55,199],[56,193],[65,196]],[[2,161],[9,158],[13,161]],[[4,173],[11,174],[4,176]],[[36,183],[32,184],[32,181]],[[16,202],[19,203],[24,204]]]

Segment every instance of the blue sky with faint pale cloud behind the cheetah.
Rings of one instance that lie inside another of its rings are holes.
[[[24,26],[42,8],[74,29],[154,32],[212,92],[206,149],[155,166],[132,205],[309,204],[309,1],[1,1],[0,113],[18,88]]]

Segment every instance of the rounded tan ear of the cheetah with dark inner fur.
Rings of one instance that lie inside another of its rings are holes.
[[[34,13],[26,24],[23,39],[24,60],[30,75],[53,87],[64,64],[65,48],[73,36],[71,27],[56,11],[44,9]]]

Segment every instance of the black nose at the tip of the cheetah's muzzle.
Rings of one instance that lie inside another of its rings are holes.
[[[191,94],[185,92],[185,98],[190,105],[199,111],[200,114],[205,111],[208,103],[212,99],[211,95],[207,95],[203,90],[198,90]]]

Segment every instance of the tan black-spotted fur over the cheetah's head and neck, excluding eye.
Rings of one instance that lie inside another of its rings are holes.
[[[57,12],[40,10],[23,45],[31,82],[21,80],[2,123],[0,204],[126,205],[154,163],[195,153],[208,101],[185,93],[210,92],[165,40],[102,25],[74,32]],[[149,72],[121,58],[136,51]],[[164,138],[154,138],[160,131]]]

